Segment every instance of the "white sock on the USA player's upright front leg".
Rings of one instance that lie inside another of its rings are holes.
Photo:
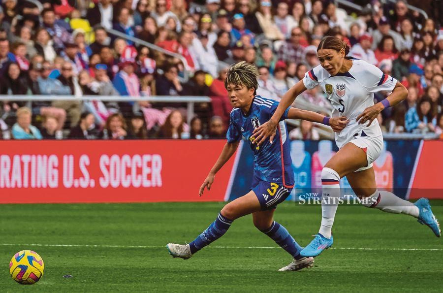
[[[331,238],[331,229],[341,195],[339,174],[331,168],[323,168],[321,170],[321,187],[323,195],[321,200],[321,225],[318,233],[326,238]]]

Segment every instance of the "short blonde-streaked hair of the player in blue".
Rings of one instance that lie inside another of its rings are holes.
[[[254,95],[256,95],[255,91],[258,88],[257,67],[246,61],[229,66],[229,69],[226,72],[224,87],[227,88],[228,84],[245,86],[248,89],[254,89]]]

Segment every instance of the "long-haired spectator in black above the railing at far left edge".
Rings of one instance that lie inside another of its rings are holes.
[[[28,86],[26,80],[21,76],[19,65],[9,63],[5,71],[6,75],[4,77],[0,76],[0,95],[27,95]],[[20,106],[23,102],[15,102],[14,104]]]

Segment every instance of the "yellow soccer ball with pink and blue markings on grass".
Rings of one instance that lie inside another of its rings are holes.
[[[41,257],[32,250],[16,253],[9,262],[9,273],[17,283],[32,285],[43,277],[45,264]]]

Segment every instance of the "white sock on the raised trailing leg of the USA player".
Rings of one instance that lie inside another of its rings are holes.
[[[379,192],[376,190],[373,195],[370,195],[365,199],[365,201],[362,201],[364,206],[376,208],[387,213],[403,213],[418,218],[418,207],[412,202],[401,199],[388,191]]]

